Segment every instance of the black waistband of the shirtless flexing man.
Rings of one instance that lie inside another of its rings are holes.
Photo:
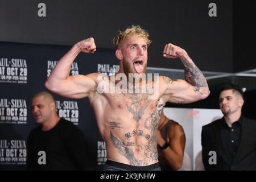
[[[109,165],[109,166],[114,166],[114,167],[118,167],[118,168],[122,168],[122,169],[126,169],[126,170],[131,170],[131,171],[150,171],[152,169],[159,168],[158,163],[151,164],[149,166],[131,166],[131,165],[128,165],[128,164],[123,164],[123,163],[114,162],[112,160],[107,160],[106,164]]]

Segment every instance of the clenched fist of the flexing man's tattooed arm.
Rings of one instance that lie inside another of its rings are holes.
[[[183,57],[187,55],[187,52],[174,44],[166,44],[164,46],[163,56],[168,59],[175,59],[177,57]]]

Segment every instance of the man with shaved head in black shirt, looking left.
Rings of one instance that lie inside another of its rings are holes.
[[[28,137],[28,170],[84,170],[86,147],[82,131],[56,113],[48,92],[32,98],[32,114],[40,126]]]

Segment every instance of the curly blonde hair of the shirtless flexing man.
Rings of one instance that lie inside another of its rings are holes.
[[[150,46],[151,40],[148,39],[148,32],[144,29],[141,28],[139,25],[132,25],[131,27],[126,28],[125,31],[120,31],[117,36],[114,37],[113,39],[113,44],[115,48],[119,48],[122,46],[123,40],[127,38],[127,36],[138,36],[141,38],[146,39],[147,46]]]

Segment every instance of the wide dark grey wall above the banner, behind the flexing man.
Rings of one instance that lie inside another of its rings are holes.
[[[38,4],[46,3],[46,17]],[[217,17],[209,17],[209,3]],[[178,68],[177,60],[162,57],[166,43],[187,50],[204,71],[233,71],[232,0],[1,0],[0,41],[71,46],[94,37],[98,47],[113,48],[112,38],[131,24],[150,32],[150,67]],[[221,66],[220,66],[221,65]]]

